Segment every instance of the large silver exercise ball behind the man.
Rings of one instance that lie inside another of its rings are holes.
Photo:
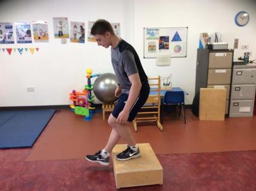
[[[93,84],[95,96],[103,103],[113,103],[117,100],[115,90],[118,80],[113,73],[104,73],[97,77]]]

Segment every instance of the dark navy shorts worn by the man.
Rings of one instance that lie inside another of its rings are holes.
[[[138,111],[140,111],[141,107],[146,103],[149,95],[149,89],[150,88],[149,88],[148,82],[145,82],[144,84],[142,84],[140,89],[140,95],[138,96],[138,99],[132,106],[131,111],[129,113],[129,118],[127,121],[132,122],[132,120],[135,118]],[[112,115],[115,118],[118,118],[118,115],[120,114],[120,112],[123,111],[125,103],[127,102],[128,96],[129,95],[127,93],[122,93],[119,96],[118,102],[116,103],[115,108],[112,112]]]

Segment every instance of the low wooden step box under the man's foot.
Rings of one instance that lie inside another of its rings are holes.
[[[159,163],[150,144],[138,144],[141,157],[131,160],[116,160],[116,155],[124,151],[126,144],[117,144],[113,149],[113,169],[116,188],[138,187],[163,184],[163,167]]]

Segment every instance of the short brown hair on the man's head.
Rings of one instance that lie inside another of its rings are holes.
[[[115,34],[114,30],[113,30],[113,27],[108,22],[108,20],[104,20],[104,19],[96,20],[96,22],[92,26],[91,34],[93,36],[95,36],[96,34],[104,35],[106,32],[109,32],[111,34]]]

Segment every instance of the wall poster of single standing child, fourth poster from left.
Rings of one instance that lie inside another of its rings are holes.
[[[69,38],[67,17],[53,17],[53,28],[55,38]]]

